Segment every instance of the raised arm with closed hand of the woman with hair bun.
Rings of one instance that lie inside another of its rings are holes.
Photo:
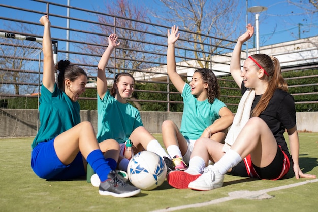
[[[47,15],[40,18],[40,23],[44,26],[43,32],[43,77],[42,85],[44,85],[49,91],[54,91],[55,84],[55,68],[53,61],[53,50],[52,50],[52,40],[51,40],[51,23]]]

